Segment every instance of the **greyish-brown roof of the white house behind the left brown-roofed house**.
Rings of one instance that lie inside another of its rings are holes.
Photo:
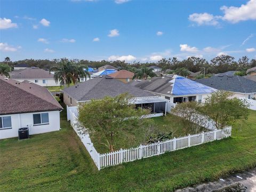
[[[26,68],[14,70],[10,73],[12,79],[53,79],[53,74],[44,69]]]

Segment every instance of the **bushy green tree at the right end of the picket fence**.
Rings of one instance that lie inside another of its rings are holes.
[[[218,129],[233,125],[239,119],[247,119],[249,115],[248,103],[231,98],[232,95],[226,91],[217,91],[205,99],[202,113],[213,119]]]

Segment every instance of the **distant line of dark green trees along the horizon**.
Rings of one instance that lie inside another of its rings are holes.
[[[19,61],[11,61],[9,57],[6,58],[5,61],[0,62],[0,64],[7,64],[11,68],[13,68],[14,65],[18,63],[26,63],[30,67],[39,67],[43,69],[51,69],[54,65],[59,63],[61,60],[68,60],[66,58],[64,59],[53,59],[53,60],[34,60],[34,59],[25,59],[25,60],[19,60]],[[73,59],[70,60],[74,63],[79,63],[79,65],[88,66],[92,68],[99,68],[103,65],[111,65],[114,67],[118,67],[120,69],[127,69],[130,71],[135,72],[137,69],[142,67],[149,67],[152,65],[157,65],[158,67],[161,67],[163,71],[170,69],[170,70],[177,70],[180,68],[186,68],[187,70],[191,72],[197,72],[202,71],[205,74],[217,74],[217,73],[224,73],[226,71],[230,70],[236,70],[241,71],[244,73],[247,69],[251,67],[256,67],[256,60],[255,59],[249,59],[247,56],[244,56],[242,58],[239,58],[238,61],[235,61],[234,57],[231,57],[229,55],[221,55],[218,57],[213,58],[210,61],[207,61],[206,59],[197,58],[197,57],[189,57],[188,59],[184,59],[182,61],[179,61],[177,58],[169,58],[169,59],[161,59],[158,62],[137,62],[134,61],[132,63],[127,63],[125,61],[89,61],[89,60],[78,60]]]

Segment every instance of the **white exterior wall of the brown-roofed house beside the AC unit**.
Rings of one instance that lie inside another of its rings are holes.
[[[18,137],[18,129],[22,127],[29,127],[29,134],[39,134],[60,130],[60,111],[43,111],[42,113],[49,113],[49,124],[34,126],[33,114],[38,113],[40,112],[1,115],[1,117],[11,116],[12,128],[0,129],[0,139]]]

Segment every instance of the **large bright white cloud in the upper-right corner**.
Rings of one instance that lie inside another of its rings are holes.
[[[231,23],[237,23],[239,21],[256,20],[256,1],[251,0],[245,5],[242,4],[240,7],[234,6],[222,6],[220,10],[224,12],[223,20]]]

